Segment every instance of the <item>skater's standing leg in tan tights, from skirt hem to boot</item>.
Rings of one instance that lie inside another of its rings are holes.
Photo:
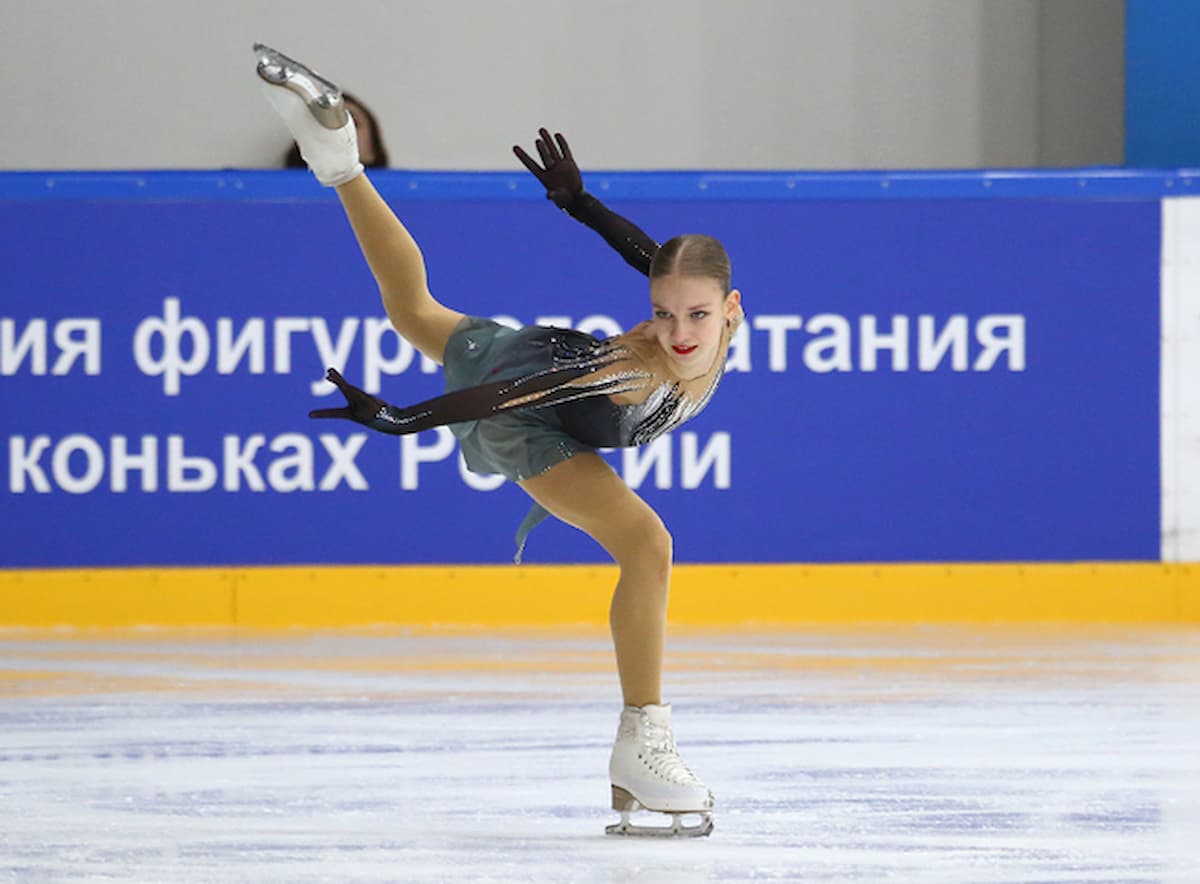
[[[608,623],[622,693],[631,706],[661,703],[671,578],[671,535],[662,519],[599,455],[576,455],[521,487],[617,560],[620,579]]]

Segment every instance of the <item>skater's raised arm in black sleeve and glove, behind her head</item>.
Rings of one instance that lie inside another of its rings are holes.
[[[649,276],[650,260],[659,251],[659,243],[637,224],[617,215],[583,190],[580,167],[576,166],[571,148],[560,133],[556,133],[553,139],[544,128],[538,130],[538,133],[540,138],[535,145],[541,157],[540,164],[518,145],[512,145],[512,152],[541,181],[546,188],[546,199],[553,200],[554,205],[572,218],[604,236],[630,266]]]

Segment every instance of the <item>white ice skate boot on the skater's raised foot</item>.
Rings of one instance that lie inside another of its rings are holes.
[[[317,180],[336,187],[362,174],[358,131],[342,90],[269,46],[254,43],[254,55],[263,94],[283,118]]]

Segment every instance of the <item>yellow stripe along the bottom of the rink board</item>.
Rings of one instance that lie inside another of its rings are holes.
[[[612,566],[0,571],[0,626],[602,626]],[[679,565],[678,626],[1200,624],[1200,566]]]

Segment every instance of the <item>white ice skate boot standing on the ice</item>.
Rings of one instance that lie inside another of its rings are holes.
[[[679,758],[671,706],[625,706],[608,776],[612,808],[620,811],[620,822],[607,826],[607,835],[695,838],[713,831],[713,793]],[[630,814],[638,810],[667,813],[671,825],[634,825]],[[684,816],[692,814],[698,822],[685,825]]]

